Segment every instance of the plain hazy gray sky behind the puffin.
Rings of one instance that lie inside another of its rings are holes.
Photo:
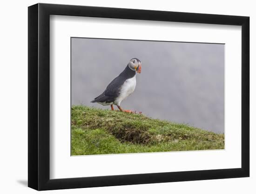
[[[223,44],[72,38],[72,105],[110,109],[90,101],[134,57],[141,74],[121,107],[224,133]]]

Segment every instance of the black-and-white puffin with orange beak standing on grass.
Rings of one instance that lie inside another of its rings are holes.
[[[124,110],[120,104],[134,92],[136,87],[136,73],[141,73],[141,61],[137,58],[132,58],[121,74],[112,80],[104,92],[91,102],[97,102],[103,106],[110,105],[111,110],[114,110],[113,105],[115,105],[121,112],[135,113],[131,110]]]

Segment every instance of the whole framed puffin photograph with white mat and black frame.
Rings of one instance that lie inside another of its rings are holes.
[[[249,176],[249,17],[28,7],[28,187]]]

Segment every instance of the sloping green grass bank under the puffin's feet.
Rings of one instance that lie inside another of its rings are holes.
[[[71,154],[120,154],[224,149],[224,134],[143,114],[73,106]]]

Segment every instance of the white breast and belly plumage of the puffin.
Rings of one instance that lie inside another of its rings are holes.
[[[120,95],[115,100],[115,105],[120,106],[122,100],[131,95],[136,87],[136,75],[126,80],[121,86]]]

